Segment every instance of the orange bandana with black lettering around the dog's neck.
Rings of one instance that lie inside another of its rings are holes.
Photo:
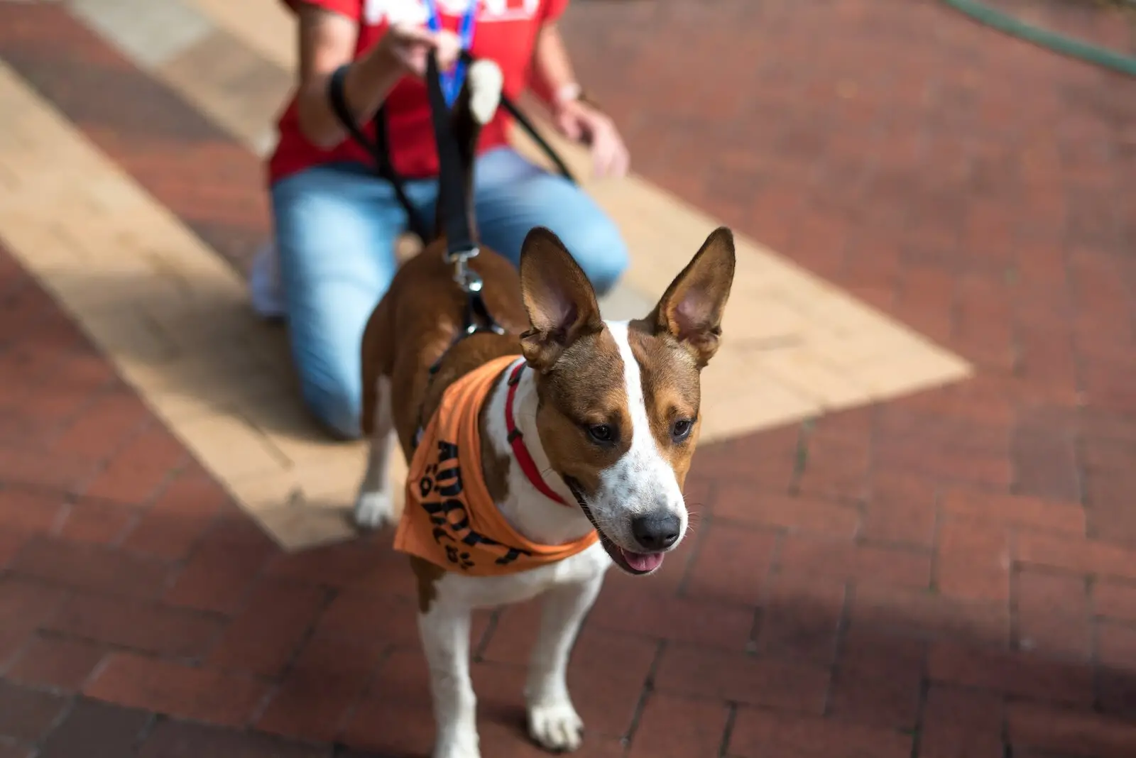
[[[490,361],[450,385],[410,461],[407,502],[394,549],[470,576],[528,571],[576,555],[599,539],[537,545],[506,521],[482,479],[477,415],[502,372],[518,359]]]

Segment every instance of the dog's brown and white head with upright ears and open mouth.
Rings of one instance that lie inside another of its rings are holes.
[[[734,237],[719,228],[645,318],[607,323],[560,239],[544,228],[525,239],[521,347],[537,377],[541,445],[628,573],[657,570],[686,532],[699,377],[718,349],[733,279]]]

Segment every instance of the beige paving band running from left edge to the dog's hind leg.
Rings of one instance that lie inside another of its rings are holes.
[[[326,512],[349,508],[362,445],[304,415],[279,330],[249,318],[236,273],[2,62],[0,109],[19,115],[0,143],[15,177],[0,229],[22,264],[282,545],[348,537]]]

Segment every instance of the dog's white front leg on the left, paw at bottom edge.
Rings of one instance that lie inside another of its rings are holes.
[[[436,725],[434,758],[479,758],[477,699],[469,680],[469,608],[433,603],[418,614]]]

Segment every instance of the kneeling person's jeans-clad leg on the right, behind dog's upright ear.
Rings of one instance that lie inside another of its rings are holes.
[[[615,222],[583,189],[549,174],[511,148],[484,153],[475,176],[475,212],[481,238],[509,258],[520,259],[534,226],[552,229],[604,294],[627,268],[627,245]]]

